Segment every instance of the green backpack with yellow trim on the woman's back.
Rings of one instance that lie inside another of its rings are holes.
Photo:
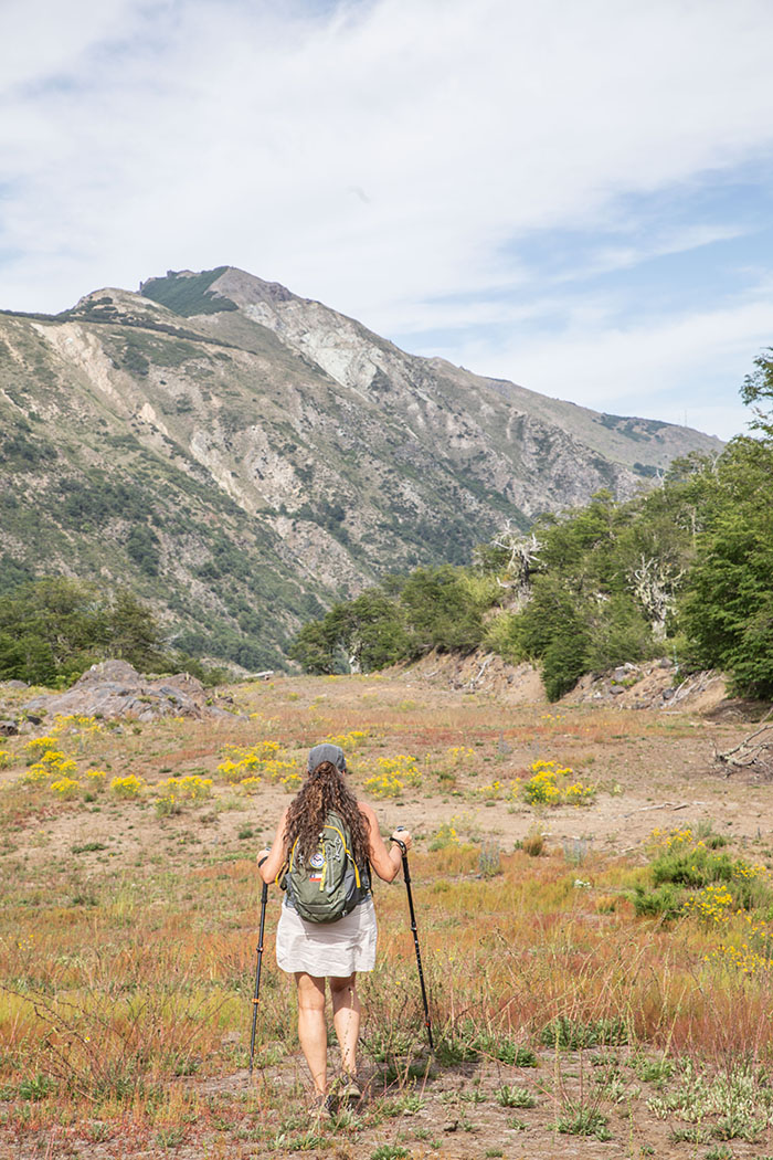
[[[336,922],[350,914],[371,892],[367,868],[360,872],[351,854],[349,827],[337,813],[329,813],[320,844],[308,860],[290,851],[284,884],[287,904],[306,922]]]

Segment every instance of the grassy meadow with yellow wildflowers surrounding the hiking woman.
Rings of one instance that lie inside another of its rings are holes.
[[[773,1155],[773,793],[710,761],[745,726],[409,681],[249,683],[229,717],[0,745],[0,1157]],[[379,883],[366,1093],[330,1121],[276,890],[247,1072],[255,854],[323,739],[414,832],[436,1042],[404,886]]]

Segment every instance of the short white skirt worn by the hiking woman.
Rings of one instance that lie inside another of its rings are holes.
[[[335,922],[306,922],[283,904],[277,927],[277,964],[283,971],[304,971],[316,979],[345,979],[375,966],[375,908],[366,898]]]

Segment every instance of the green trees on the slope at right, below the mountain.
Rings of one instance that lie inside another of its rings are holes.
[[[773,360],[744,385],[758,437],[677,461],[662,485],[508,530],[464,568],[418,568],[305,625],[291,655],[313,673],[364,670],[432,648],[484,647],[539,664],[555,699],[585,673],[676,654],[773,696]]]

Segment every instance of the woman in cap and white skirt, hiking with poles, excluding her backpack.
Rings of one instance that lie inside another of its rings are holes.
[[[392,882],[400,870],[402,848],[410,848],[407,829],[395,831],[392,847],[385,844],[373,810],[357,802],[345,782],[347,759],[336,745],[316,745],[307,762],[307,777],[298,795],[283,812],[270,850],[258,854],[263,882],[282,873],[292,853],[312,860],[320,832],[333,812],[349,831],[350,848],[359,870],[362,900],[351,913],[334,922],[307,922],[293,906],[292,884],[285,894],[277,928],[277,963],[296,976],[298,985],[298,1038],[314,1081],[320,1108],[329,1108],[327,1079],[327,1028],[324,1023],[324,980],[330,985],[333,1025],[341,1045],[343,1083],[338,1097],[358,1100],[357,1041],[360,1006],[357,996],[358,971],[375,965],[375,912],[370,893],[370,869],[384,882]]]

